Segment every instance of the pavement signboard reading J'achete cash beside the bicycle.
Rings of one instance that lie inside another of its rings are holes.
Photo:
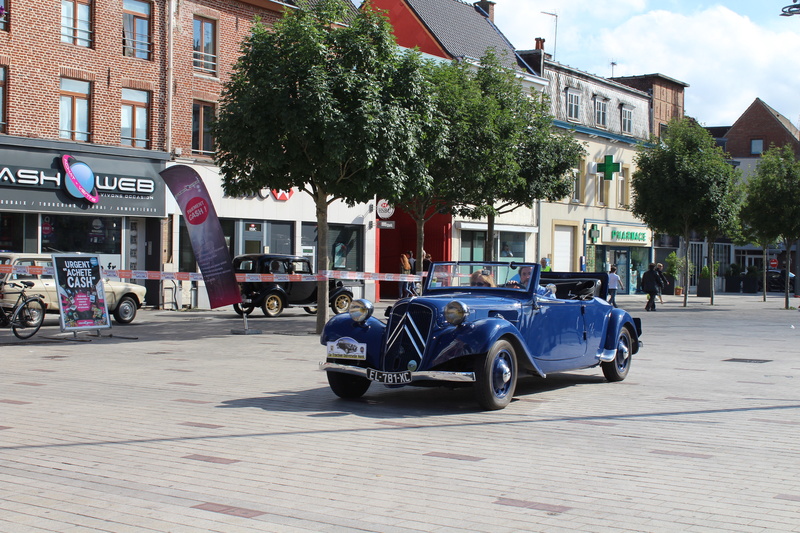
[[[111,327],[100,259],[96,255],[53,254],[61,331]]]

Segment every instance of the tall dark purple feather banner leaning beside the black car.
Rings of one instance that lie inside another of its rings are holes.
[[[192,250],[203,273],[212,309],[242,302],[225,235],[205,184],[195,170],[175,165],[161,171],[186,219]]]

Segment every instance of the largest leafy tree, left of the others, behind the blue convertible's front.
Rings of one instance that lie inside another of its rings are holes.
[[[292,187],[314,199],[317,271],[329,268],[328,206],[391,197],[425,174],[433,104],[418,53],[401,53],[387,19],[344,0],[256,21],[225,84],[212,132],[225,193]],[[318,282],[317,331],[328,284]]]

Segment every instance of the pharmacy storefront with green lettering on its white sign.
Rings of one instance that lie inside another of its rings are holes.
[[[633,294],[651,262],[653,232],[638,224],[586,224],[586,270],[608,272],[616,265],[619,294]]]

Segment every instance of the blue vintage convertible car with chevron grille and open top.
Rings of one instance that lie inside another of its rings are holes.
[[[606,302],[604,273],[541,272],[536,263],[434,263],[422,295],[399,300],[387,322],[367,300],[322,332],[333,392],[359,398],[387,386],[471,385],[482,408],[502,409],[521,373],[600,366],[628,375],[641,321]]]

